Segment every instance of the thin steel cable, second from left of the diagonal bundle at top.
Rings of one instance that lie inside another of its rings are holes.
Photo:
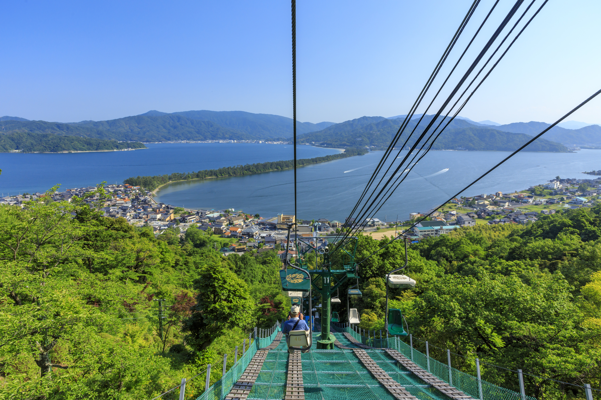
[[[484,18],[483,22],[480,24],[480,26],[478,27],[477,31],[475,32],[475,34],[472,36],[472,39],[469,41],[469,43],[467,44],[467,46],[465,47],[465,49],[463,50],[463,53],[460,55],[459,59],[457,59],[455,65],[453,66],[453,68],[451,68],[450,73],[447,74],[447,78],[444,80],[444,82],[442,82],[440,88],[438,89],[438,91],[436,92],[436,94],[433,96],[432,100],[430,101],[430,104],[427,106],[426,111],[424,111],[424,113],[421,115],[421,117],[419,118],[419,120],[417,121],[417,123],[415,124],[415,127],[413,127],[413,130],[411,131],[411,133],[409,133],[409,136],[407,136],[407,138],[405,139],[403,145],[401,146],[401,149],[398,151],[397,153],[397,157],[401,154],[401,151],[403,150],[403,148],[407,145],[407,142],[409,142],[409,140],[412,138],[413,133],[415,133],[415,130],[418,128],[419,124],[421,124],[421,121],[423,121],[423,118],[426,117],[426,113],[429,111],[430,107],[432,107],[433,103],[435,102],[436,98],[438,98],[438,95],[441,93],[442,89],[444,88],[444,86],[447,84],[448,80],[451,78],[451,76],[453,75],[454,71],[456,70],[457,66],[459,65],[459,63],[462,61],[463,56],[465,55],[465,53],[468,51],[469,47],[471,46],[471,44],[474,42],[475,38],[478,36],[478,34],[480,33],[481,29],[483,28],[484,24],[486,23],[486,21],[489,19],[490,14],[492,14],[492,12],[495,10],[496,5],[499,3],[499,0],[497,0],[495,2],[495,4],[493,4],[492,8],[490,8],[490,11],[488,12],[488,14],[486,15],[486,17]],[[463,26],[463,28],[465,28],[465,26]],[[462,28],[462,32],[463,32],[463,28]],[[454,46],[454,43],[453,43]],[[451,47],[452,49],[452,47]],[[444,59],[446,61],[448,56],[444,55]],[[441,65],[442,67],[442,65]],[[438,74],[438,71],[436,72],[436,74]],[[427,83],[428,85],[428,89],[430,88],[430,85],[432,85],[433,82],[429,82]],[[424,97],[425,97],[425,93],[424,93]],[[423,97],[421,99],[419,99],[419,103],[421,103],[421,100],[423,100]],[[419,104],[418,104],[419,105]],[[415,110],[410,110],[410,114],[407,114],[407,117],[405,119],[405,121],[407,121],[407,118],[410,118],[413,116],[413,114],[415,114]],[[410,121],[410,120],[409,120]],[[394,136],[394,138],[392,138],[391,143],[388,146],[388,149],[386,150],[386,152],[390,151],[390,153],[392,153],[392,150],[394,150],[395,145],[397,144],[398,140],[400,139],[401,135],[403,134],[404,130],[406,129],[406,127],[409,125],[409,122],[407,122],[406,125],[401,126],[396,135]],[[410,155],[410,152],[408,153]],[[388,155],[385,154],[385,156],[382,157],[383,162],[386,162],[386,159],[388,159]],[[404,161],[404,160],[403,160]],[[401,161],[401,166],[403,165],[403,161]],[[380,178],[380,181],[377,183],[376,188],[379,187],[379,185],[382,183],[382,181],[384,180],[384,178],[386,177],[386,174],[388,174],[388,172],[390,171],[390,169],[392,168],[392,166],[394,165],[394,160],[390,163],[390,165],[388,166],[388,168],[386,169],[386,171],[382,174],[382,177]],[[382,165],[383,167],[383,165]],[[375,181],[375,175],[379,174],[379,172],[381,171],[382,167],[380,167],[380,164],[376,167],[376,171],[374,171],[374,175],[373,178]],[[371,187],[371,184],[373,184],[373,181],[370,180],[370,182],[368,182],[368,185],[365,187],[364,189],[364,193],[362,193],[361,197],[359,198],[358,202],[355,205],[355,208],[353,208],[352,210],[352,214],[355,213],[356,208],[359,206],[359,204],[361,204],[361,202],[364,199],[365,194],[367,194],[368,189]],[[358,214],[361,214],[361,212],[364,210],[365,206],[367,205],[367,202],[370,201],[371,196],[373,196],[375,193],[374,192],[371,193],[371,195],[368,197],[367,201],[365,201],[365,204],[363,205],[363,207],[361,208],[361,210],[359,210]],[[368,211],[366,211],[366,213],[368,213]],[[352,214],[349,216],[349,218],[352,218]],[[359,218],[359,219],[362,219]]]

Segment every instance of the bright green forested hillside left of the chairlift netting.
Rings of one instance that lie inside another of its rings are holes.
[[[0,207],[0,398],[148,400],[282,320],[275,252],[225,259],[199,229],[155,238],[101,215],[77,198]]]

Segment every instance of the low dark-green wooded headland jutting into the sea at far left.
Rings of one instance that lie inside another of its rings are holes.
[[[11,132],[0,135],[0,152],[64,153],[69,151],[111,151],[147,148],[140,142],[117,142],[53,133]]]

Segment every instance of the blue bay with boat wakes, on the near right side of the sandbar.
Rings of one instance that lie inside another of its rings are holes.
[[[303,219],[344,221],[361,195],[382,151],[299,168],[297,215]],[[403,152],[404,154],[404,152]],[[508,156],[503,151],[431,151],[374,217],[405,220],[455,195]],[[591,178],[583,171],[601,168],[601,150],[578,153],[516,154],[463,195],[513,192],[555,178]],[[445,171],[448,169],[448,171]],[[157,201],[186,207],[242,208],[272,217],[294,213],[292,171],[245,177],[176,182],[159,190]]]

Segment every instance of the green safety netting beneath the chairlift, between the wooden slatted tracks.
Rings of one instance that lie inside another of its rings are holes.
[[[400,338],[365,338],[348,327],[337,327],[335,332],[348,332],[357,341],[371,347],[394,348],[408,359],[413,360],[423,369],[445,381],[466,394],[481,400],[535,400],[531,396],[522,399],[519,393],[496,386],[495,384],[480,381],[482,396],[478,379],[465,372],[449,368],[447,365],[434,359],[429,359],[423,353],[411,348]],[[238,363],[228,371],[221,380],[217,381],[197,400],[221,400],[227,395],[234,383],[242,376],[242,372],[257,352],[258,348],[267,347],[273,342],[279,329],[271,336],[257,339],[248,351],[240,358]],[[356,347],[343,333],[333,333],[338,341],[345,347]],[[306,400],[377,400],[394,399],[386,389],[380,385],[376,378],[362,365],[352,350],[335,348],[334,350],[317,350],[316,343],[319,333],[314,333],[313,347],[308,353],[301,355],[303,366],[303,382]],[[379,335],[378,335],[379,336]],[[405,369],[384,350],[367,349],[367,354],[380,366],[392,379],[403,386],[407,392],[419,400],[449,400],[439,390],[426,384],[417,375]],[[288,368],[288,352],[285,341],[278,347],[269,351],[263,363],[263,368],[257,381],[252,386],[248,400],[280,400],[285,395],[285,384]],[[450,379],[451,377],[451,379]]]

